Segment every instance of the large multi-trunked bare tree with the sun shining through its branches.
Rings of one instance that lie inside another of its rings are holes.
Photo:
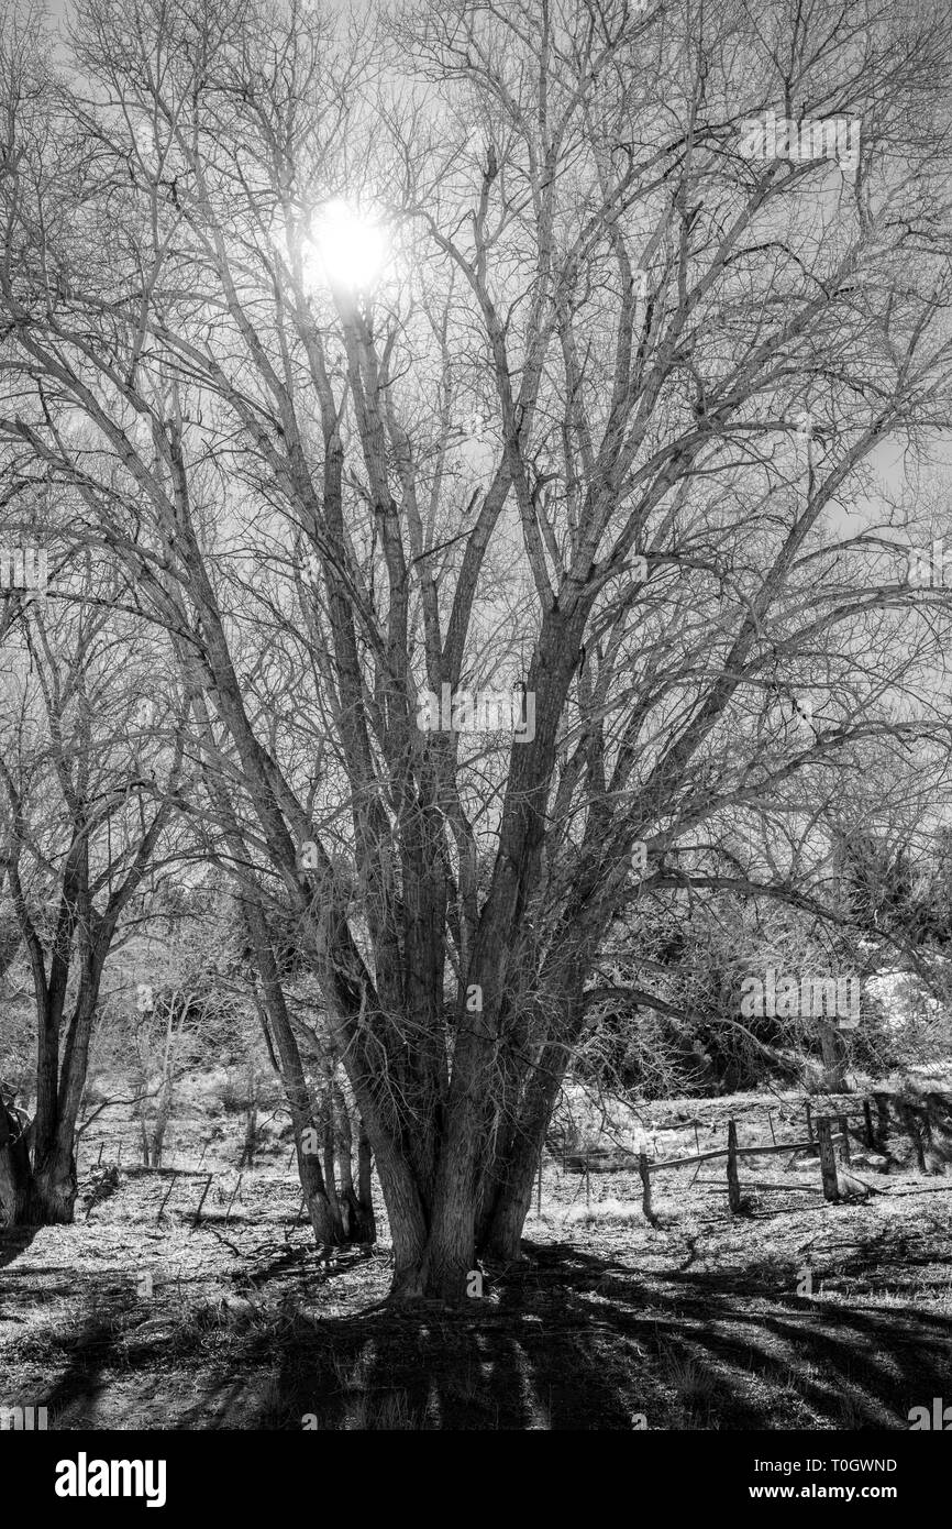
[[[946,596],[876,492],[947,417],[943,17],[84,0],[72,50],[8,69],[3,439],[199,676],[394,1290],[455,1298],[518,1252],[619,910],[946,737]],[[856,164],[746,157],[769,109],[859,118]],[[321,274],[335,199],[373,291]],[[532,737],[420,729],[489,683]]]

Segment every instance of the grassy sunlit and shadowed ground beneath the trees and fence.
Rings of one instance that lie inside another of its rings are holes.
[[[802,1104],[665,1101],[599,1141],[682,1156],[723,1145],[732,1116],[741,1145],[795,1142]],[[177,1170],[208,1135],[193,1115]],[[194,1225],[205,1179],[134,1170],[127,1147],[113,1187],[119,1125],[101,1119],[76,1225],[0,1232],[0,1404],[46,1405],[50,1428],[880,1430],[952,1401],[947,1121],[926,1174],[899,1135],[888,1154],[854,1139],[869,1193],[840,1205],[807,1156],[741,1159],[740,1216],[723,1159],[659,1174],[656,1226],[637,1173],[549,1156],[524,1263],[483,1271],[457,1313],[385,1303],[384,1217],[371,1255],[327,1268],[277,1141],[234,1196],[240,1125],[219,1131]]]

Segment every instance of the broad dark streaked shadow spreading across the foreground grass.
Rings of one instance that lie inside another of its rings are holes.
[[[743,1280],[654,1278],[526,1246],[461,1310],[318,1316],[287,1289],[269,1304],[264,1281],[229,1326],[102,1286],[58,1339],[43,1402],[61,1428],[883,1430],[947,1391],[952,1324],[911,1304],[802,1300],[796,1271],[767,1258]]]

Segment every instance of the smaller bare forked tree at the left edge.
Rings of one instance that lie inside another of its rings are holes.
[[[35,605],[17,635],[18,650],[9,636],[5,648],[0,812],[32,972],[37,1110],[29,1164],[23,1153],[8,1164],[26,1180],[5,1209],[8,1220],[46,1225],[73,1216],[73,1142],[102,971],[162,846],[183,749],[179,739],[144,758],[128,679],[134,639],[116,631],[108,599]]]

